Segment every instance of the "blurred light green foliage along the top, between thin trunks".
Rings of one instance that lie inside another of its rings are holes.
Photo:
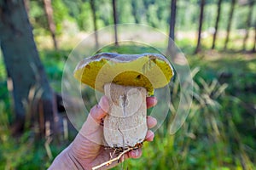
[[[95,1],[96,4],[96,22],[98,28],[113,25],[113,8],[112,1]],[[41,1],[31,1],[29,11],[32,26],[35,28],[34,33],[48,33],[47,20],[44,14],[44,4]],[[57,34],[63,32],[72,32],[72,29],[79,31],[93,31],[92,12],[90,9],[90,1],[84,0],[55,0],[52,1],[54,9],[54,20],[56,24]],[[117,1],[117,12],[119,24],[122,23],[138,23],[153,26],[162,31],[167,31],[170,20],[171,1],[135,1],[135,0],[119,0]],[[256,6],[254,5],[255,9]],[[199,23],[200,3],[195,0],[177,1],[177,31],[196,31]],[[256,11],[256,10],[253,10]],[[212,31],[209,28],[215,26],[217,17],[217,1],[209,0],[204,10],[203,31]],[[231,30],[247,28],[247,14],[249,12],[248,5],[241,6],[236,4],[235,14]],[[222,10],[219,20],[219,30],[226,30],[227,20],[230,20],[230,1],[223,1]],[[256,13],[252,15],[251,25],[255,25]],[[70,25],[70,26],[69,26]],[[77,33],[78,31],[72,32]],[[212,33],[212,32],[210,32]]]

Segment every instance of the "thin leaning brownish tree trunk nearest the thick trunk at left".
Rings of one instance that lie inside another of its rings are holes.
[[[52,40],[54,42],[54,46],[55,49],[58,49],[58,43],[55,37],[55,30],[56,30],[56,26],[55,26],[55,21],[53,19],[53,9],[51,6],[51,0],[44,0],[44,11],[46,14],[46,18],[48,21],[48,26],[49,26],[49,31],[52,37]]]

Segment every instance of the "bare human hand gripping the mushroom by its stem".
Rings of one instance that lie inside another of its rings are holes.
[[[156,103],[157,100],[154,97],[147,98],[148,108],[153,107]],[[113,150],[105,150],[104,145],[102,145],[103,128],[101,125],[102,119],[108,114],[108,109],[108,98],[103,96],[99,104],[90,110],[86,122],[84,122],[73,143],[55,158],[49,169],[91,169],[102,162],[109,161]],[[154,117],[147,116],[148,128],[154,127],[156,123],[157,121]],[[152,141],[153,139],[154,133],[148,130],[145,140]],[[120,161],[124,161],[126,158],[138,158],[140,156],[142,156],[141,148],[125,153]],[[115,167],[118,163],[118,161],[114,161],[108,167],[105,166],[102,168]]]

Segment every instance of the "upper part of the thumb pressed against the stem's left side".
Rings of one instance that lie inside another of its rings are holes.
[[[108,98],[103,96],[98,105],[90,110],[90,116],[98,123],[102,122],[102,118],[107,115],[109,109]]]

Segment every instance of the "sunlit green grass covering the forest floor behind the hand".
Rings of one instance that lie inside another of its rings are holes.
[[[255,169],[256,55],[217,51],[193,55],[193,47],[188,42],[179,43],[187,53],[190,67],[197,72],[195,98],[186,122],[174,135],[168,133],[179,101],[179,87],[174,80],[171,88],[177,91],[172,94],[172,114],[155,132],[154,142],[144,144],[140,159],[125,161],[115,169]],[[134,45],[108,46],[102,51],[156,52],[154,48]],[[61,71],[69,52],[69,49],[40,50],[45,71],[57,92],[61,92]],[[11,104],[2,61],[0,59],[0,169],[45,169],[53,159],[46,151],[45,139],[36,141],[30,128],[20,138],[10,135]],[[57,156],[72,140],[70,137],[59,144],[50,143],[51,155]]]

